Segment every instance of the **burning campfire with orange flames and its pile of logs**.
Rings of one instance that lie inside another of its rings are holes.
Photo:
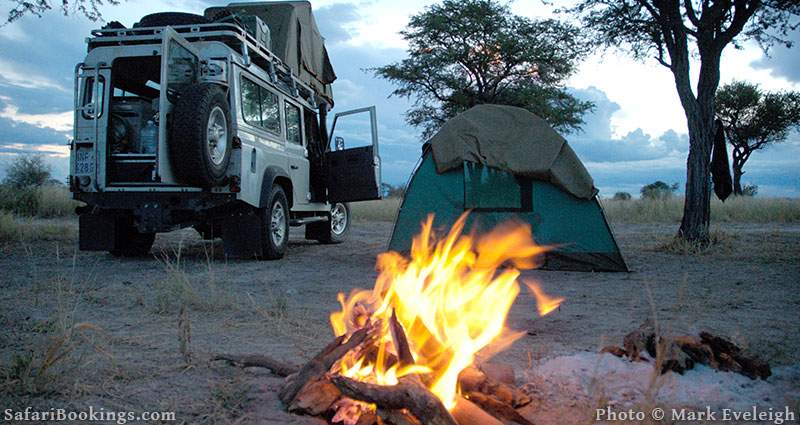
[[[374,288],[339,294],[341,309],[330,316],[336,338],[305,365],[216,359],[286,376],[279,396],[289,411],[333,423],[529,424],[516,409],[531,400],[516,388],[513,369],[476,359],[522,334],[505,326],[519,270],[540,265],[547,248],[534,243],[528,225],[512,221],[476,235],[464,233],[466,221],[464,214],[437,234],[429,216],[409,257],[381,254]],[[563,301],[525,283],[541,315]]]

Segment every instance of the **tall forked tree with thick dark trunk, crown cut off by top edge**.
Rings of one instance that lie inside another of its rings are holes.
[[[686,200],[678,235],[708,243],[715,94],[722,51],[753,39],[763,48],[797,28],[796,0],[579,0],[567,10],[593,34],[598,46],[621,48],[634,58],[654,57],[672,72],[686,115],[689,156]],[[690,66],[699,64],[696,87]]]

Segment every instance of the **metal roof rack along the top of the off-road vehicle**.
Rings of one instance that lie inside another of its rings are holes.
[[[285,83],[289,95],[300,97],[315,107],[319,106],[320,101],[326,103],[328,109],[333,107],[333,99],[300,80],[280,58],[236,24],[170,25],[170,28],[190,41],[221,41],[242,55],[245,61],[261,67],[273,82]],[[97,29],[92,30],[93,37],[87,38],[86,42],[89,51],[102,46],[152,44],[153,41],[161,40],[163,32],[164,27]]]

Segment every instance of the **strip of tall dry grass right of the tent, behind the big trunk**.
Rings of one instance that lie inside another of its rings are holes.
[[[602,201],[606,216],[614,223],[680,223],[683,198]],[[733,197],[711,202],[711,221],[716,223],[798,223],[800,199]]]

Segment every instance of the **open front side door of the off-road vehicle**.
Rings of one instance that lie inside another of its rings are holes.
[[[369,138],[364,134],[366,127],[369,128]],[[355,143],[360,146],[346,147],[346,138],[361,142]],[[375,107],[335,114],[328,140],[334,141],[332,150],[325,153],[328,201],[381,199],[381,158]]]

